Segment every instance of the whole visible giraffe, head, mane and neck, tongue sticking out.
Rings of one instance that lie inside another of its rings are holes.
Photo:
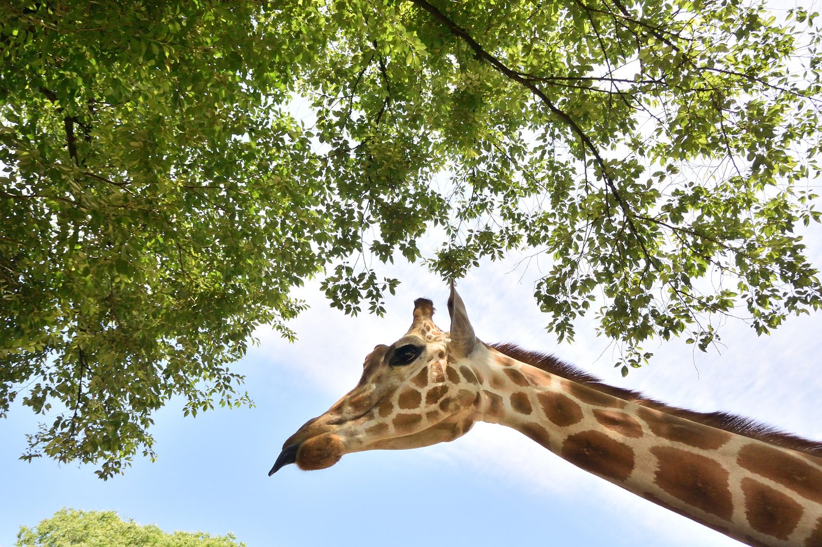
[[[316,470],[347,453],[448,442],[486,421],[748,545],[822,546],[822,443],[483,343],[453,284],[448,310],[444,332],[432,301],[414,301],[409,331],[374,347],[357,386],[285,441],[269,476],[290,463]]]

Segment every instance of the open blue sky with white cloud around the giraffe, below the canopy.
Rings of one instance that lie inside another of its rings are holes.
[[[820,233],[808,239],[817,266]],[[547,318],[531,296],[538,266],[523,276],[511,271],[514,262],[485,263],[460,287],[479,338],[555,352],[612,384],[672,404],[735,411],[822,439],[819,315],[789,319],[762,338],[731,322],[723,329],[727,347],[721,355],[671,342],[653,348],[652,365],[621,379],[592,323],[580,324],[573,345],[556,345],[544,333]],[[500,425],[477,425],[450,444],[350,454],[327,470],[289,466],[266,476],[284,439],[353,387],[367,352],[405,332],[414,298],[432,297],[440,310],[435,320],[447,329],[447,287],[439,279],[409,264],[390,273],[404,283],[387,301],[385,318],[347,317],[330,310],[316,286],[304,289],[312,309],[293,322],[300,340],[289,344],[260,329],[261,345],[235,367],[247,375],[257,406],[192,419],[170,404],[156,416],[159,461],[137,460],[125,476],[104,482],[90,466],[19,461],[23,434],[36,420],[28,411],[12,411],[0,429],[7,493],[0,546],[13,545],[21,524],[32,526],[62,507],[113,509],[167,531],[232,531],[249,546],[410,546],[421,540],[739,545],[576,469]]]

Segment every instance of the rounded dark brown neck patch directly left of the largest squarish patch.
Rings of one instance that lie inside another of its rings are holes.
[[[634,471],[633,449],[601,431],[570,435],[562,443],[562,457],[585,471],[614,480],[626,480]]]

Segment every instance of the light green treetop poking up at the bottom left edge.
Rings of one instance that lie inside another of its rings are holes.
[[[113,511],[62,509],[40,521],[34,530],[21,526],[16,547],[240,547],[232,534],[211,537],[203,532],[167,534],[149,524],[127,522]]]

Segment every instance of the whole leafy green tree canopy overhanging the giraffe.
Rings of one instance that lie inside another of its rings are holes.
[[[151,413],[249,403],[256,325],[381,313],[533,249],[547,329],[591,311],[623,374],[820,307],[820,30],[761,3],[3,2],[2,391],[57,417],[25,458],[154,457]],[[311,106],[297,119],[295,105]],[[441,237],[422,256],[425,234]],[[377,260],[370,260],[376,258]],[[375,265],[376,264],[376,265]],[[594,306],[597,307],[597,306]]]

